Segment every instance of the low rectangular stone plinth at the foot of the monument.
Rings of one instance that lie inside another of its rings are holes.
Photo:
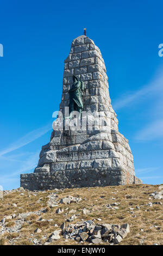
[[[124,170],[103,169],[60,170],[51,173],[21,174],[21,186],[28,190],[54,188],[104,187],[140,183],[141,180]]]

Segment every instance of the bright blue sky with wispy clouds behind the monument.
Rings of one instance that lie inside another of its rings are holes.
[[[0,185],[20,186],[49,142],[64,59],[87,28],[101,49],[120,132],[136,175],[163,183],[162,1],[3,1],[0,16]]]

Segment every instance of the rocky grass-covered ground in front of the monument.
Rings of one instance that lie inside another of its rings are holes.
[[[162,245],[163,185],[4,191],[0,245]]]

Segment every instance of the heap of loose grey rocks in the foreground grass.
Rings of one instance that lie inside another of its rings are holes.
[[[109,242],[111,245],[120,243],[130,232],[129,224],[95,224],[93,221],[77,222],[65,227],[62,223],[62,235],[65,239],[93,244]],[[52,238],[52,237],[51,237]]]

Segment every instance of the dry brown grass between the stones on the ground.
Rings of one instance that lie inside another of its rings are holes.
[[[55,191],[46,191],[46,193],[37,192],[36,196],[32,192],[23,192],[24,196],[20,196],[20,192],[12,192],[4,196],[4,200],[0,200],[0,219],[4,215],[11,215],[36,211],[42,208],[46,208],[46,212],[42,213],[40,216],[29,215],[26,221],[22,225],[20,234],[22,239],[18,239],[15,244],[17,245],[29,245],[31,244],[28,237],[34,234],[34,237],[42,237],[46,235],[47,237],[51,235],[52,231],[60,229],[60,225],[65,221],[65,218],[72,216],[68,212],[72,209],[76,210],[75,214],[80,214],[76,220],[92,220],[97,218],[102,218],[101,223],[113,223],[122,224],[128,222],[130,225],[130,233],[123,239],[120,245],[153,245],[153,243],[158,243],[162,245],[162,231],[163,231],[163,215],[162,215],[162,205],[154,204],[152,207],[147,206],[149,202],[162,202],[163,200],[149,200],[149,194],[158,190],[159,185],[147,185],[147,184],[137,184],[137,185],[125,185],[125,186],[108,186],[108,187],[91,187],[91,188],[73,188],[66,189],[64,191],[58,192],[58,202],[61,198],[67,197],[68,195],[74,197],[81,197],[82,201],[77,203],[71,203],[70,205],[59,204],[58,207],[66,209],[62,214],[55,214],[57,208],[49,208],[47,205],[49,193]],[[131,198],[127,198],[127,195]],[[36,203],[37,200],[39,203]],[[115,198],[113,200],[112,198]],[[112,210],[107,209],[106,204],[112,204],[114,202],[120,202],[118,205],[119,209]],[[17,204],[15,208],[12,206],[13,203]],[[140,209],[136,209],[139,206]],[[89,209],[90,214],[84,215],[83,208]],[[131,214],[129,208],[134,208],[134,214]],[[68,213],[65,217],[64,214]],[[136,217],[134,217],[136,215]],[[45,220],[53,219],[52,222],[48,221],[37,221],[39,217]],[[29,223],[28,223],[28,222]],[[10,221],[12,222],[12,221]],[[9,224],[8,222],[7,224]],[[13,221],[14,222],[14,221]],[[99,221],[95,220],[96,223]],[[58,228],[54,227],[54,224],[58,224]],[[68,223],[67,223],[68,224]],[[152,225],[158,227],[152,227]],[[42,230],[41,234],[35,234],[34,230],[40,228]],[[141,231],[143,229],[143,231]],[[25,235],[25,236],[24,236]],[[9,238],[5,237],[8,242]],[[41,240],[42,243],[44,240]],[[46,240],[45,240],[46,241]],[[44,241],[44,242],[45,242]],[[60,240],[53,242],[54,245],[77,245],[75,241],[65,239],[61,236]],[[87,244],[86,242],[83,244]],[[107,243],[103,243],[104,245]]]

